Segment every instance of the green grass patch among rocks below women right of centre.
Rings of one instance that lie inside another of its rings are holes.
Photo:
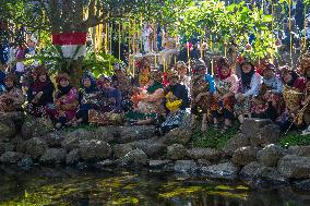
[[[223,148],[229,138],[233,138],[238,134],[239,125],[234,124],[225,133],[220,133],[218,129],[207,128],[206,132],[201,132],[200,128],[196,128],[193,132],[193,145],[195,147],[207,148]]]

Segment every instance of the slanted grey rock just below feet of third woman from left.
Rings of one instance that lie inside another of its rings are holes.
[[[94,133],[84,129],[78,129],[65,135],[61,142],[61,147],[67,150],[72,150],[79,147],[80,141],[90,141],[94,137]]]

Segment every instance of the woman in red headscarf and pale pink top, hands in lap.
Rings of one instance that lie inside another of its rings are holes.
[[[224,117],[223,132],[231,126],[234,118],[235,94],[238,90],[238,77],[231,73],[228,59],[220,58],[217,61],[215,77],[214,105],[211,110],[213,114],[213,124],[218,128],[218,118]]]

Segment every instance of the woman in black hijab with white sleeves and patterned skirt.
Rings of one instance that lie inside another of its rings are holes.
[[[238,85],[238,92],[235,95],[237,100],[234,111],[240,122],[240,129],[243,125],[245,117],[251,117],[251,99],[259,95],[262,78],[255,72],[254,65],[249,61],[241,63],[241,78]]]

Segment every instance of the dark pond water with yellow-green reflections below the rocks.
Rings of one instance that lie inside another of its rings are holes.
[[[240,182],[180,179],[147,171],[0,168],[0,205],[293,206],[310,194],[252,191]]]

